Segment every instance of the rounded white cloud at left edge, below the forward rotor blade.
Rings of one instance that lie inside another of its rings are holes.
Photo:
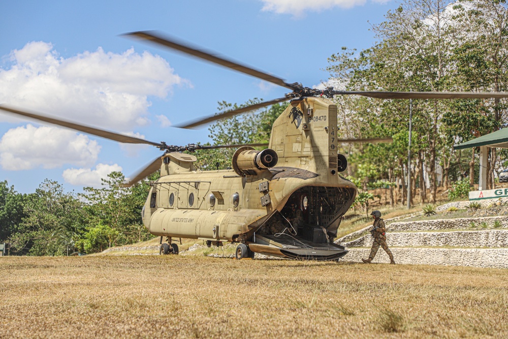
[[[86,135],[56,127],[10,129],[0,139],[0,165],[5,170],[27,170],[63,164],[90,166],[97,161],[101,146]]]

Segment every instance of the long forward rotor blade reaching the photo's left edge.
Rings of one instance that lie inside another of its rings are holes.
[[[118,142],[131,143],[131,144],[148,144],[148,145],[153,145],[153,146],[157,146],[157,147],[164,147],[163,144],[160,144],[158,142],[152,142],[152,141],[148,141],[148,140],[144,140],[144,139],[140,139],[140,138],[136,138],[136,137],[130,137],[130,136],[115,133],[115,132],[100,130],[100,129],[97,129],[94,127],[77,124],[76,122],[61,120],[56,117],[51,117],[48,115],[42,115],[39,113],[33,113],[33,112],[27,112],[27,111],[21,111],[19,109],[15,109],[15,108],[12,108],[12,107],[9,107],[6,105],[0,105],[0,109],[14,113],[14,114],[22,115],[22,116],[28,117],[30,119],[49,122],[49,124],[66,127],[71,130],[76,130],[76,131],[80,131],[83,133],[96,135],[101,138],[106,138],[106,139],[110,139],[110,140],[114,140],[114,141],[118,141]]]

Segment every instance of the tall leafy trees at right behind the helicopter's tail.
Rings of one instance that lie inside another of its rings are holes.
[[[449,5],[450,1],[403,0],[397,10],[387,13],[386,21],[372,26],[376,44],[361,51],[342,47],[328,59],[327,70],[348,90],[506,90],[505,2],[457,2],[453,12]],[[394,139],[393,144],[348,146],[346,152],[353,164],[349,174],[361,179],[360,187],[365,190],[373,180],[405,177],[409,101],[342,96],[336,102],[343,137]],[[457,155],[453,145],[504,126],[508,101],[413,100],[411,106],[411,180],[425,174],[430,181],[430,200],[435,202],[437,166],[443,169],[446,187],[451,178],[464,177],[468,171],[462,166],[470,161],[468,151]],[[508,156],[505,152],[499,155],[501,162]],[[496,159],[490,162],[492,170]]]

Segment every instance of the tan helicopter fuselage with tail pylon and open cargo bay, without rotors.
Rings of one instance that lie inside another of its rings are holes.
[[[269,144],[278,158],[274,167],[249,167],[240,155],[233,157],[233,170],[199,171],[194,156],[166,153],[162,176],[151,183],[143,208],[144,225],[157,236],[244,242],[252,251],[280,256],[288,255],[269,249],[267,240],[275,236],[268,227],[274,222],[286,224],[285,233],[299,241],[331,243],[356,195],[354,184],[338,173],[337,130],[332,102],[303,98],[274,122]],[[285,217],[289,203],[302,211],[300,229]],[[313,257],[310,253],[304,257]]]

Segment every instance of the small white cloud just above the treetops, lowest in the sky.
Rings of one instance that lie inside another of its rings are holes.
[[[63,180],[76,186],[86,186],[100,188],[102,180],[106,179],[111,172],[121,172],[122,168],[117,164],[106,165],[97,164],[95,169],[90,168],[70,168],[62,173]]]

